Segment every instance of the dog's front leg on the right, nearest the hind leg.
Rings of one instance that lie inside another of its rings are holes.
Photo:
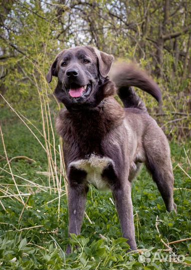
[[[131,183],[126,179],[124,182],[114,185],[112,188],[115,204],[121,223],[123,237],[132,250],[136,250],[135,229],[133,221],[133,205],[131,200]]]

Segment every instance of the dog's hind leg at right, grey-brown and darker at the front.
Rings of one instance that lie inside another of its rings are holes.
[[[159,129],[159,127],[157,129]],[[156,182],[167,211],[175,210],[176,212],[176,204],[173,200],[174,177],[170,160],[170,149],[162,130],[157,131],[160,131],[157,133],[157,139],[148,136],[144,141],[144,146],[146,146],[145,163],[153,180]],[[153,131],[152,135],[155,132],[156,131]]]

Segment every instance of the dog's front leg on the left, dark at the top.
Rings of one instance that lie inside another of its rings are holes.
[[[68,211],[70,233],[80,234],[84,218],[86,195],[88,186],[85,181],[86,172],[80,169],[71,168],[68,185]],[[71,246],[67,246],[67,253],[71,253]]]

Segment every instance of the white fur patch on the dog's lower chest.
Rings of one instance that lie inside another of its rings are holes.
[[[114,162],[109,157],[99,157],[96,154],[91,154],[88,159],[79,159],[73,161],[69,164],[69,167],[75,166],[78,169],[83,169],[87,172],[87,181],[93,184],[97,189],[102,191],[109,190],[108,183],[102,178],[101,174],[108,166],[108,164],[113,164]]]

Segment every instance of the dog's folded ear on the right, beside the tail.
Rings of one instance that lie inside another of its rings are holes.
[[[103,77],[106,77],[114,61],[114,56],[98,50],[97,48],[95,48],[95,53],[99,60],[99,72]]]

